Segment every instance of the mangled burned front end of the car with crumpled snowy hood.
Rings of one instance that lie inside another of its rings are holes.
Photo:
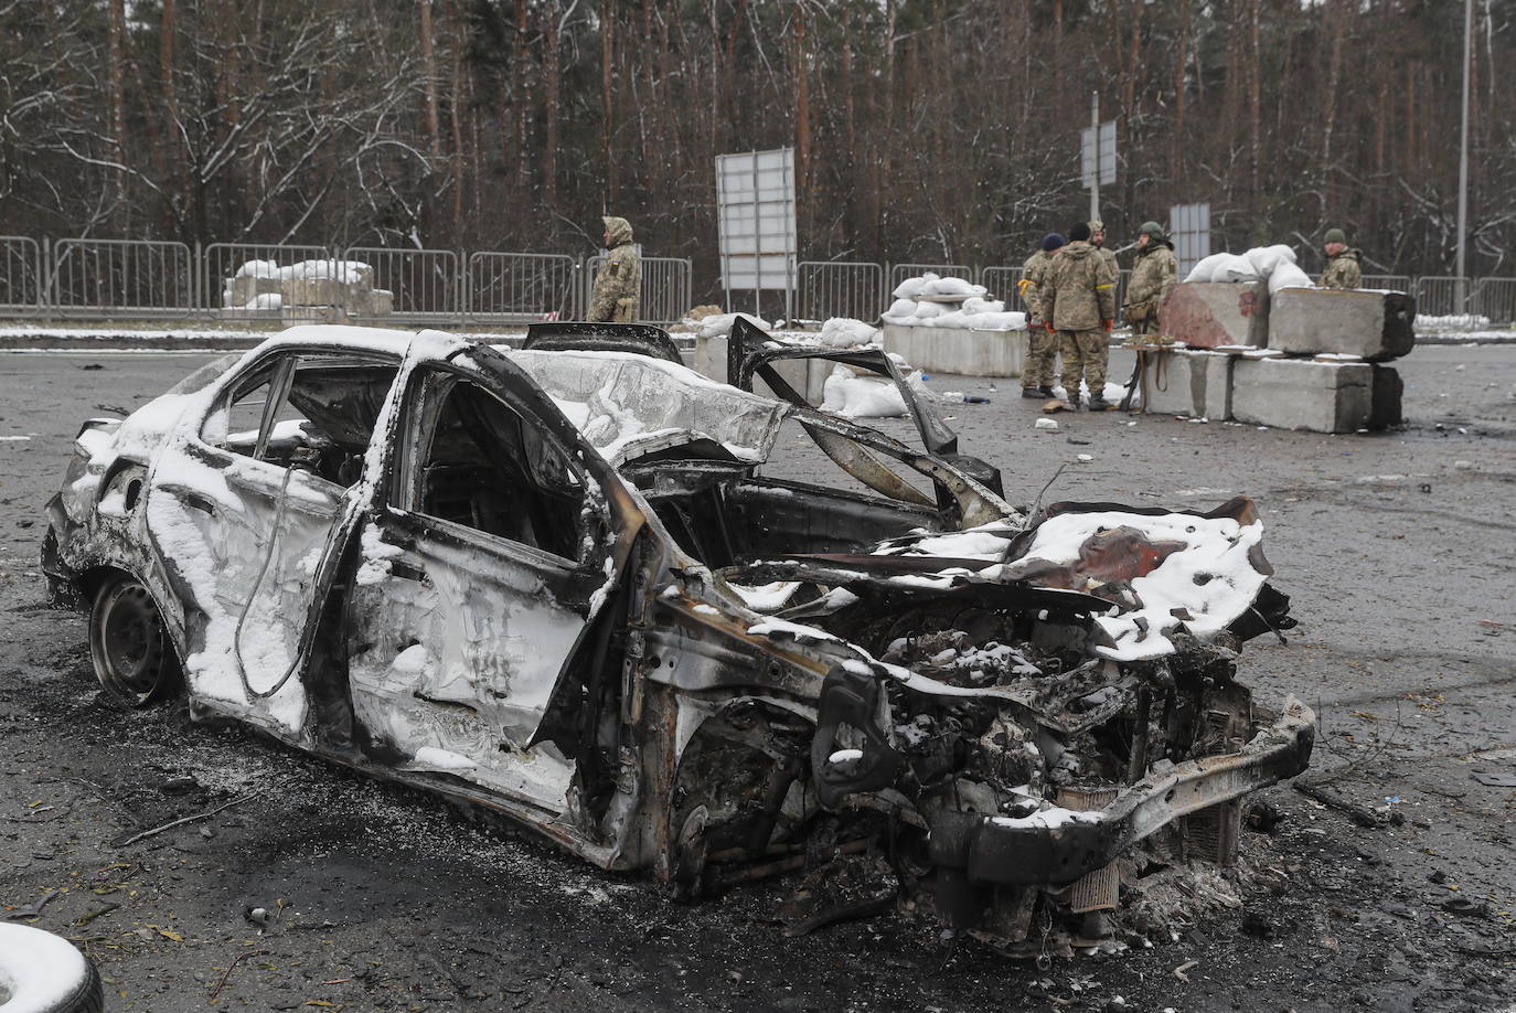
[[[901,905],[1007,952],[1166,940],[1239,902],[1243,798],[1304,770],[1314,726],[1236,679],[1246,640],[1295,625],[1251,500],[1017,511],[994,473],[931,511],[708,464],[623,470],[711,567],[666,602],[714,619],[714,588],[764,617],[747,637],[829,663],[814,722],[738,698],[694,732],[681,889],[800,869],[791,933]],[[952,529],[987,503],[998,520]]]

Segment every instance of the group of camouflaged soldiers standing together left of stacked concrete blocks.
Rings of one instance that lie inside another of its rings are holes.
[[[1132,334],[1158,328],[1158,303],[1169,294],[1178,273],[1173,243],[1157,221],[1137,231],[1137,262],[1126,284],[1122,312]],[[1105,367],[1110,334],[1116,326],[1116,253],[1105,249],[1105,224],[1075,221],[1064,238],[1046,235],[1041,249],[1026,259],[1020,293],[1031,311],[1026,318],[1029,347],[1022,367],[1022,397],[1054,396],[1054,359],[1063,358],[1064,403],[1079,408],[1079,382],[1090,391],[1090,411],[1105,411]]]

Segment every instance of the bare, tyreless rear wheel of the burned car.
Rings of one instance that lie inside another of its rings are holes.
[[[106,696],[126,707],[147,707],[179,687],[179,658],[162,613],[136,578],[114,573],[96,591],[89,660]]]

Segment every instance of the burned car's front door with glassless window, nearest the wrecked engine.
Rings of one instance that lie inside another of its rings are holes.
[[[549,816],[568,807],[575,764],[534,735],[619,572],[593,450],[561,417],[544,425],[555,411],[470,370],[412,375],[347,623],[371,755]]]

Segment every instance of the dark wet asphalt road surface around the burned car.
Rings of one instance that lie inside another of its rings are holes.
[[[785,881],[679,905],[437,799],[190,725],[180,708],[103,707],[80,617],[42,604],[41,506],[82,419],[130,409],[208,358],[0,353],[0,911],[58,890],[36,924],[89,949],[108,1008],[203,1010],[212,996],[253,1010],[596,1011],[1516,1001],[1516,792],[1489,784],[1516,775],[1516,347],[1419,349],[1399,364],[1410,425],[1377,435],[1116,414],[1045,432],[1014,382],[934,379],[991,399],[952,414],[1013,500],[1049,481],[1049,502],[1255,497],[1301,626],[1287,646],[1254,640],[1246,681],[1260,699],[1296,693],[1317,708],[1305,779],[1319,796],[1378,811],[1358,826],[1343,805],[1272,789],[1286,819],[1245,834],[1254,875],[1240,908],[1169,945],[1046,968],[946,949],[897,916],[787,939]],[[1111,375],[1125,375],[1120,355]],[[277,913],[262,931],[246,917],[259,907]]]

